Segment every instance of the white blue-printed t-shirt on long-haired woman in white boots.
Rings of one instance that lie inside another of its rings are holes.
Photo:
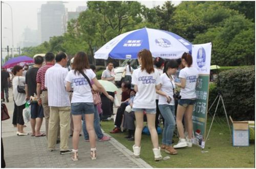
[[[134,70],[132,84],[138,86],[138,92],[133,100],[133,108],[156,108],[156,85],[160,84],[160,75],[157,69],[148,74],[141,68]]]

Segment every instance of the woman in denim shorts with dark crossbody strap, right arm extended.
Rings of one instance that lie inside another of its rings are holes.
[[[71,114],[74,123],[74,133],[73,133],[73,156],[72,160],[78,160],[78,142],[79,133],[81,132],[81,120],[84,116],[86,120],[86,128],[90,137],[91,146],[91,158],[96,159],[96,137],[94,131],[94,103],[93,96],[89,81],[83,76],[83,72],[89,81],[93,81],[94,85],[110,100],[114,100],[104,88],[98,82],[95,73],[90,69],[87,54],[84,52],[78,52],[75,55],[73,62],[73,70],[69,71],[66,77],[66,90],[71,91],[71,83],[73,84],[73,96],[71,100]]]

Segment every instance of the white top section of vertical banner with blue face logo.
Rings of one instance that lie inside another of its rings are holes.
[[[199,74],[210,74],[211,43],[193,45],[192,57]]]

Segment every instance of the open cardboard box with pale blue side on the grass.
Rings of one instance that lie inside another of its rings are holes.
[[[249,146],[249,123],[248,121],[233,121],[229,116],[233,124],[232,128],[232,140],[233,146]]]

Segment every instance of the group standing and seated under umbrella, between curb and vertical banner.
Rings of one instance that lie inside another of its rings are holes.
[[[158,57],[153,62],[151,52],[143,49],[138,53],[138,62],[138,69],[129,69],[133,71],[131,83],[129,77],[121,85],[122,102],[117,110],[115,127],[110,133],[119,133],[121,128],[127,129],[129,133],[125,138],[135,140],[135,157],[140,155],[144,121],[150,130],[155,160],[162,159],[160,150],[174,155],[178,153],[178,148],[192,147],[192,114],[196,102],[198,71],[191,67],[191,55],[185,52],[178,60],[164,61]],[[130,93],[130,98],[126,93]],[[164,129],[159,147],[157,129],[160,116]],[[180,140],[173,146],[176,124]]]

